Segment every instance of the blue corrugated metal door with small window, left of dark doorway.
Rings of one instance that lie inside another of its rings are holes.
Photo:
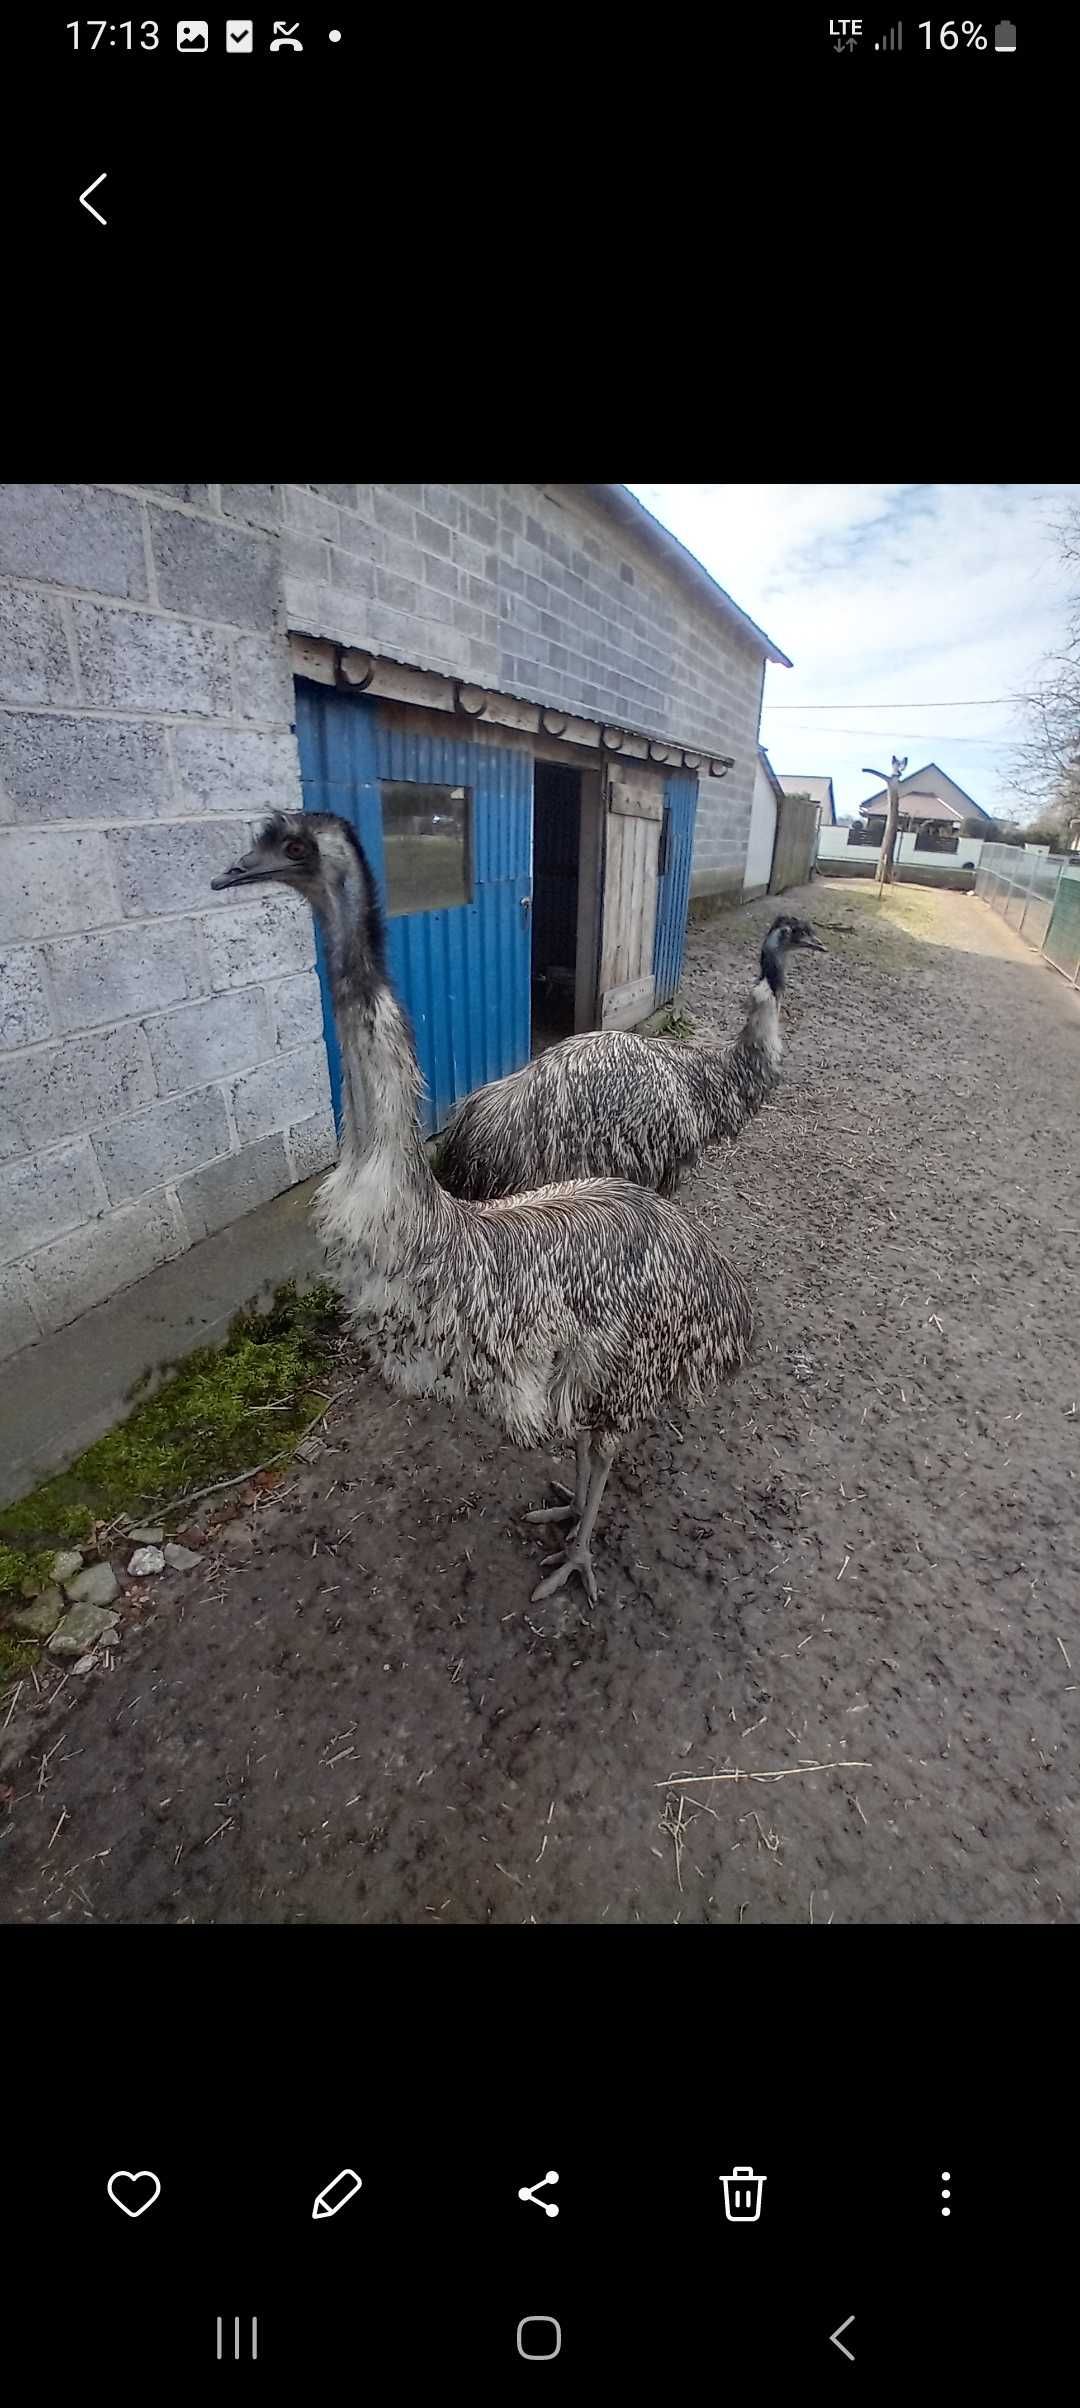
[[[532,754],[416,727],[363,696],[296,686],[303,804],[349,819],[387,901],[380,783],[469,792],[469,903],[399,913],[390,970],[416,1035],[428,1132],[488,1079],[529,1060]],[[342,1105],[334,1016],[318,954],[330,1088]]]

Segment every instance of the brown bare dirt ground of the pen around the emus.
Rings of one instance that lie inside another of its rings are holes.
[[[529,1604],[565,1466],[361,1375],[67,1683],[7,1919],[1078,1917],[1080,1002],[969,896],[784,905],[830,951],[686,1192],[755,1353],[625,1447],[599,1604]],[[700,1035],[772,913],[693,932]]]

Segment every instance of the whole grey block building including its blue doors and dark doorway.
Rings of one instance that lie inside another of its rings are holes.
[[[438,1127],[673,992],[767,660],[623,486],[0,486],[0,1356],[332,1158],[310,917],[209,889],[267,807],[366,840]]]

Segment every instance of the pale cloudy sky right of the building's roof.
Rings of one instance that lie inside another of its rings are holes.
[[[1010,696],[1063,641],[1054,518],[1080,484],[630,491],[794,662],[765,672],[762,744],[779,775],[832,775],[837,814],[851,814],[880,783],[864,766],[897,751],[909,773],[936,761],[996,816],[1032,816]]]

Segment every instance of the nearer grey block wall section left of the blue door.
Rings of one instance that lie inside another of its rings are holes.
[[[0,1356],[334,1151],[277,486],[0,486]]]

